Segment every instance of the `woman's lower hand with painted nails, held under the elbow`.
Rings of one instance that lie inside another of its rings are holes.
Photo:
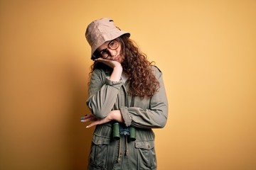
[[[116,120],[119,123],[124,122],[124,120],[122,119],[121,112],[119,110],[111,111],[107,115],[107,117],[103,118],[103,119],[97,119],[97,118],[95,118],[94,115],[85,115],[84,117],[81,118],[82,123],[92,122],[92,123],[90,123],[90,125],[87,125],[86,128],[91,128],[94,125],[102,125],[104,123],[110,122],[111,120]]]

